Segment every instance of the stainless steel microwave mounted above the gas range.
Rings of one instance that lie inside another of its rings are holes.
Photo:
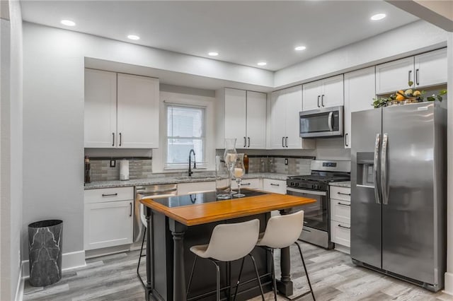
[[[299,133],[302,138],[343,136],[343,105],[300,112]]]

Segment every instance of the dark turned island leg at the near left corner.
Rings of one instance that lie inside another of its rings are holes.
[[[173,235],[173,300],[186,301],[184,271],[184,234],[187,226],[176,220],[170,220],[170,231]]]

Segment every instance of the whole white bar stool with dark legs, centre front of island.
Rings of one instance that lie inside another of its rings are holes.
[[[261,286],[260,276],[258,274],[258,268],[256,267],[256,262],[250,252],[256,246],[258,241],[258,235],[260,233],[260,221],[258,219],[248,220],[243,223],[232,223],[232,224],[222,224],[215,226],[212,230],[212,235],[209,244],[200,244],[190,248],[190,251],[195,254],[195,261],[193,261],[192,272],[190,273],[187,295],[189,294],[190,283],[192,282],[193,272],[195,271],[195,264],[197,263],[197,258],[202,257],[210,259],[210,261],[217,268],[217,278],[216,278],[216,292],[217,292],[217,301],[220,300],[220,267],[219,261],[235,261],[242,258],[241,272],[243,268],[243,261],[248,255],[252,259],[253,267],[255,268],[256,277],[258,279],[258,284],[260,285],[261,297],[264,300],[263,287]],[[239,287],[239,282],[241,281],[241,272],[239,273],[238,283],[236,284],[236,293],[237,288]],[[236,293],[234,299],[236,299]]]

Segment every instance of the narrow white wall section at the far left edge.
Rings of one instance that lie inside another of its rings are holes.
[[[0,300],[15,300],[21,285],[22,16],[18,1],[8,4],[10,20],[1,19]]]

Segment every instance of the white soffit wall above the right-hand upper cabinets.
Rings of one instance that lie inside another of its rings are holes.
[[[423,20],[335,49],[275,72],[274,86],[306,83],[447,45],[447,32]]]

